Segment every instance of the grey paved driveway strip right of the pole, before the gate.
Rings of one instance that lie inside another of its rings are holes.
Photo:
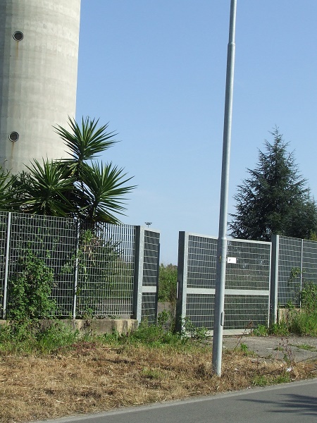
[[[223,348],[240,348],[245,344],[258,357],[283,360],[285,354],[295,362],[317,362],[317,338],[309,336],[224,336]]]

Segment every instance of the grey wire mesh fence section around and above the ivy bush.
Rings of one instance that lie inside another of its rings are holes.
[[[25,257],[32,254],[42,259],[54,272],[51,299],[56,302],[59,316],[69,316],[72,310],[75,241],[73,219],[12,214],[9,280],[21,274]]]

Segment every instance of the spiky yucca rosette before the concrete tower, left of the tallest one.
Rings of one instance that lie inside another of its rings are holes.
[[[66,166],[58,161],[43,159],[43,165],[34,159],[25,182],[23,212],[47,216],[70,216],[75,207],[70,194],[75,191],[74,178],[67,176]]]

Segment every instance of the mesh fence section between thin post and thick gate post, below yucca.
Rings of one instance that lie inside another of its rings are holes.
[[[77,315],[132,314],[135,226],[99,223],[80,233]]]

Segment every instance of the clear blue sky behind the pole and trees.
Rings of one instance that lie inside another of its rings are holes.
[[[77,119],[120,140],[102,161],[135,176],[123,223],[218,236],[230,0],[82,0]],[[229,212],[277,125],[317,198],[317,2],[237,0]]]

